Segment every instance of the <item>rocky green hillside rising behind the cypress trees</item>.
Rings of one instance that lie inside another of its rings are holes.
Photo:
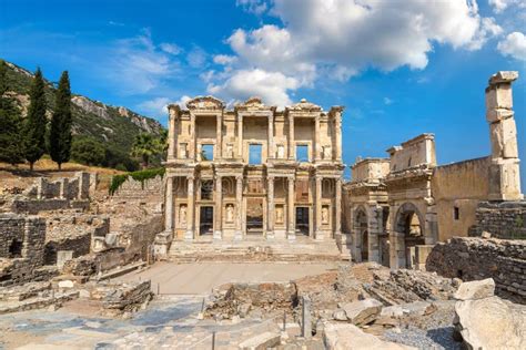
[[[13,63],[7,62],[7,80],[9,92],[20,106],[22,115],[27,114],[29,106],[29,90],[33,74]],[[74,82],[73,82],[74,84]],[[49,117],[54,109],[55,87],[47,81],[47,100]],[[133,167],[129,153],[135,135],[150,133],[159,135],[163,126],[155,120],[138,114],[123,106],[112,106],[73,92],[73,135],[77,138],[90,137],[98,141],[109,153],[109,158],[117,166]]]

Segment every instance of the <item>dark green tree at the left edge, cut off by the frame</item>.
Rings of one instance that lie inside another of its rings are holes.
[[[0,161],[14,165],[23,162],[21,116],[13,101],[4,95],[7,91],[7,64],[0,60]]]

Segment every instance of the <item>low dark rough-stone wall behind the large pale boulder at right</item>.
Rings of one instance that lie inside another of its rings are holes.
[[[454,237],[437,244],[426,269],[464,281],[493,278],[496,294],[526,303],[526,241]]]

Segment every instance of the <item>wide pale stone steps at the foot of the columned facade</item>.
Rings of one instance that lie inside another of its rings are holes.
[[[245,240],[199,239],[174,240],[169,259],[175,262],[194,261],[337,261],[341,253],[334,239],[316,241],[308,237],[266,240],[247,237]]]

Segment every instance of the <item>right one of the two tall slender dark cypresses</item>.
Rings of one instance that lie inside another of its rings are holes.
[[[51,159],[59,165],[70,159],[71,154],[71,90],[68,71],[60,76],[59,89],[55,93],[54,113],[51,119],[51,130],[49,134],[49,153]]]

